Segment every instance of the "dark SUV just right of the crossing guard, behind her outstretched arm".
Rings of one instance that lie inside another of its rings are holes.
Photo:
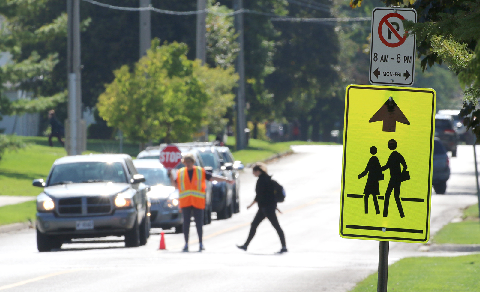
[[[229,179],[232,177],[232,172],[226,167],[222,168],[223,160],[221,160],[217,147],[211,145],[200,145],[195,147],[202,157],[205,170],[211,171],[214,175],[222,175]],[[212,210],[216,212],[217,219],[227,219],[232,217],[235,213],[235,198],[233,196],[233,185],[226,182],[214,181],[212,186]]]

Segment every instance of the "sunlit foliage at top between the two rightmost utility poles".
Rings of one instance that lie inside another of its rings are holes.
[[[215,3],[215,0],[208,0],[207,7],[211,12],[233,12],[227,6]],[[207,13],[205,22],[207,63],[224,69],[233,66],[240,51],[240,45],[235,41],[239,34],[235,33],[233,16]]]

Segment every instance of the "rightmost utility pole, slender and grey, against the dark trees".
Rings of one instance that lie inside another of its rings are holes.
[[[233,1],[233,10],[243,9],[243,0]],[[239,74],[239,86],[237,88],[237,150],[247,147],[245,128],[247,121],[245,117],[245,56],[243,53],[243,12],[235,14],[235,30],[239,34],[237,42],[240,44],[240,51],[237,57],[237,73]]]

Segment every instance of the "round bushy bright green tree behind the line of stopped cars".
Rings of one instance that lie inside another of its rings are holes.
[[[187,59],[186,44],[159,42],[152,41],[133,72],[126,65],[115,71],[97,108],[129,140],[187,141],[200,128],[207,103],[204,85],[193,75],[199,63]]]

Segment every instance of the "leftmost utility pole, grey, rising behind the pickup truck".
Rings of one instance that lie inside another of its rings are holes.
[[[80,0],[67,0],[67,73],[68,120],[66,144],[68,155],[80,155],[86,150],[86,133],[82,120],[82,82],[80,63]]]

